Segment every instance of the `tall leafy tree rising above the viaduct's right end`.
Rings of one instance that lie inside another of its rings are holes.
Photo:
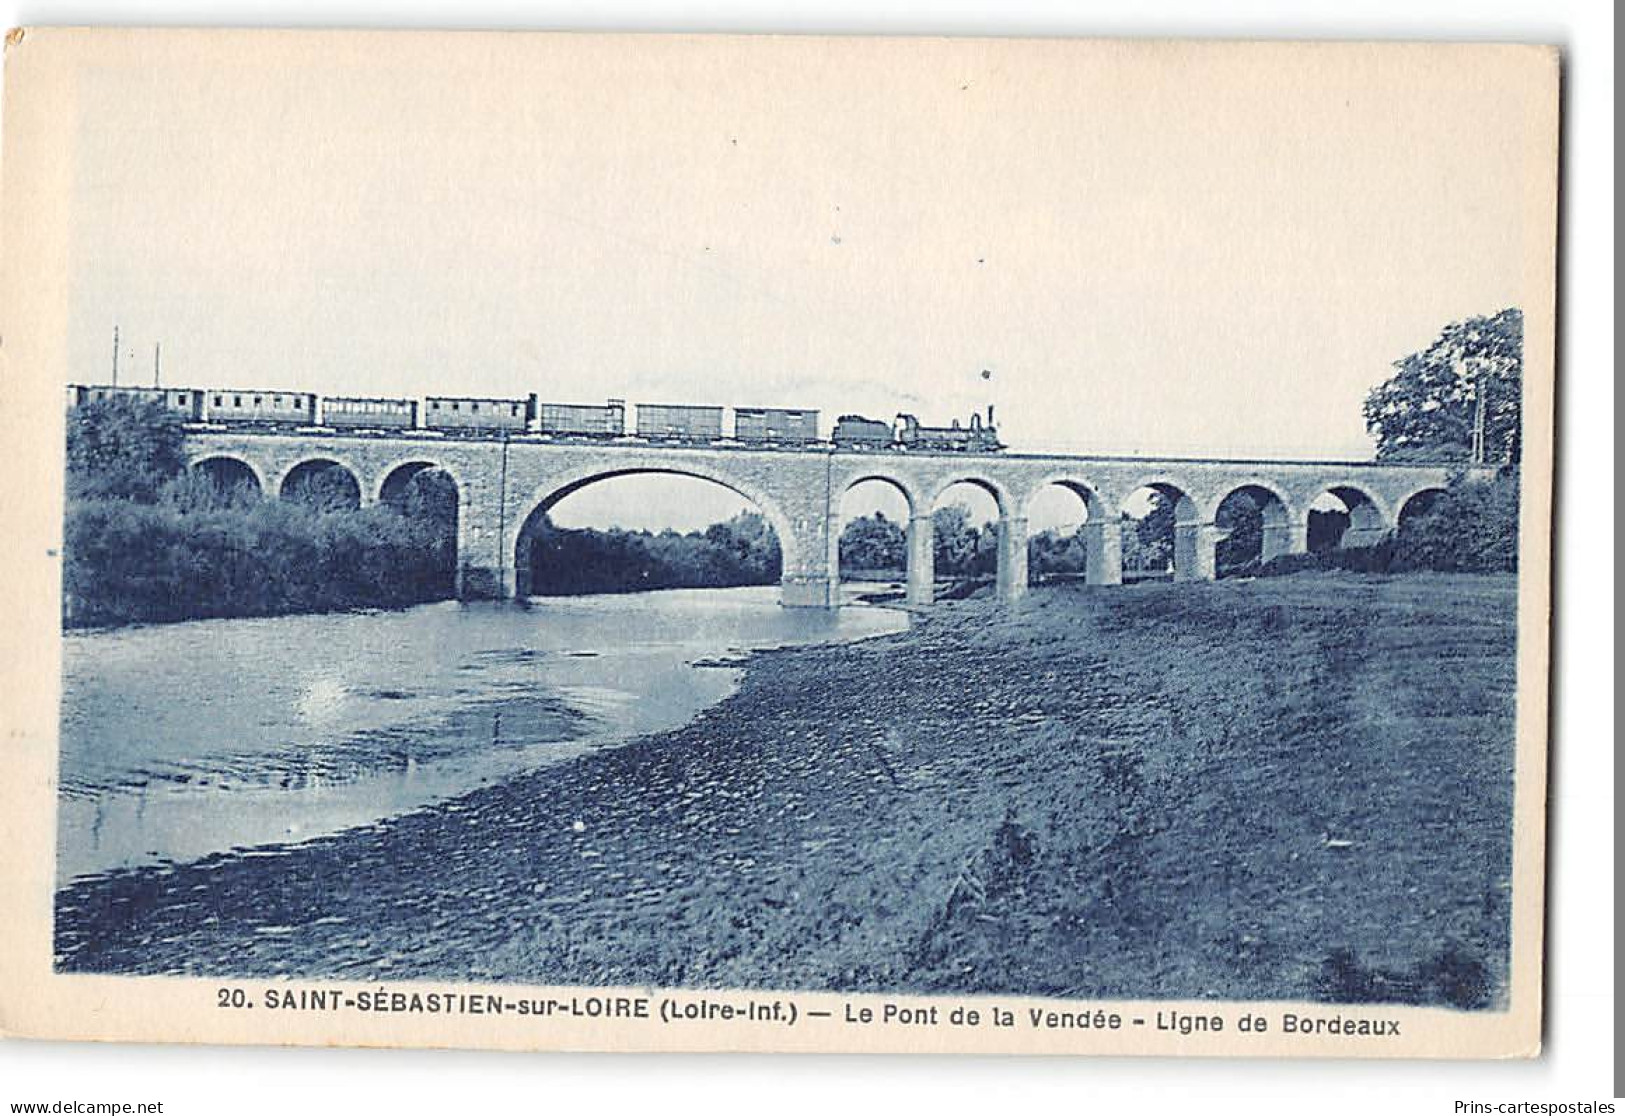
[[[1484,460],[1523,453],[1523,312],[1445,327],[1424,351],[1394,362],[1365,400],[1380,461],[1469,461],[1482,400]]]

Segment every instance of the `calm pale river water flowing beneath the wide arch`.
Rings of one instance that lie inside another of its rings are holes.
[[[70,634],[57,877],[377,822],[676,728],[733,692],[743,651],[907,625],[777,599],[671,590]]]

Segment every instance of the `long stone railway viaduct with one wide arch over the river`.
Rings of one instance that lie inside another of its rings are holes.
[[[1214,517],[1235,492],[1248,492],[1263,507],[1263,557],[1269,559],[1306,549],[1310,505],[1323,494],[1349,512],[1342,544],[1367,546],[1396,526],[1412,500],[1443,489],[1461,468],[236,430],[192,432],[185,448],[193,468],[252,474],[266,495],[283,494],[301,473],[338,465],[354,478],[362,504],[392,499],[422,469],[444,469],[458,494],[463,598],[528,595],[531,533],[544,512],[588,484],[647,473],[712,481],[751,500],[774,525],[783,554],[782,601],[811,608],[834,608],[840,599],[842,497],[864,481],[890,484],[907,500],[908,603],[926,604],[934,585],[931,512],[959,482],[983,489],[998,505],[998,593],[1012,601],[1027,588],[1027,510],[1051,484],[1071,489],[1087,508],[1089,583],[1116,585],[1123,580],[1118,512],[1142,487],[1175,500],[1175,580],[1206,580],[1216,573],[1214,547],[1225,536]]]

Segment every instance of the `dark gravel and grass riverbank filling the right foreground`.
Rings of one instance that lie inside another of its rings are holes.
[[[939,604],[673,733],[75,884],[58,968],[1498,1006],[1514,591]]]

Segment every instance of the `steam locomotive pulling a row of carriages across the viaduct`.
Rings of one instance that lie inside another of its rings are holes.
[[[925,426],[913,414],[895,421],[843,414],[827,439],[819,413],[800,408],[731,408],[725,430],[720,406],[637,403],[627,422],[626,400],[604,404],[546,403],[522,398],[427,395],[369,398],[312,391],[244,388],[167,388],[135,385],[70,385],[68,408],[106,398],[135,398],[179,414],[188,427],[218,430],[284,430],[309,434],[421,434],[427,437],[642,442],[653,445],[746,445],[752,448],[821,448],[868,452],[998,453],[993,408],[960,426]]]

